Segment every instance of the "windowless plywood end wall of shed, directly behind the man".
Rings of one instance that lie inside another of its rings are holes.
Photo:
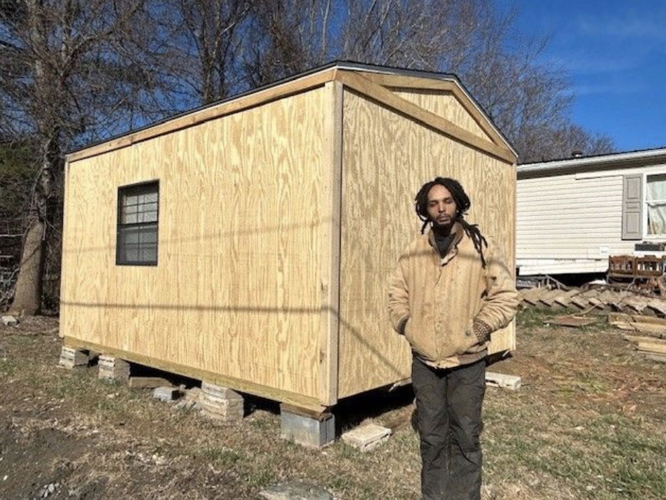
[[[420,186],[438,175],[460,180],[472,199],[468,219],[513,262],[516,179],[512,165],[354,92],[345,92],[343,109],[340,397],[410,376],[409,348],[385,312],[385,279],[419,234]],[[506,347],[512,328],[494,334]]]

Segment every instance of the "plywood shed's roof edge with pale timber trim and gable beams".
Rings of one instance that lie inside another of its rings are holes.
[[[225,116],[229,113],[249,109],[274,99],[286,97],[296,92],[302,92],[324,85],[329,81],[339,81],[348,88],[360,92],[382,104],[397,109],[397,111],[418,120],[439,132],[465,142],[469,146],[495,155],[507,162],[516,162],[518,153],[504,134],[499,131],[488,114],[479,103],[469,94],[462,85],[458,76],[454,74],[434,73],[413,69],[377,66],[351,61],[334,61],[320,67],[284,78],[281,81],[264,85],[260,88],[243,92],[239,95],[227,97],[218,102],[201,106],[197,109],[185,111],[171,116],[157,123],[131,130],[125,134],[98,141],[78,148],[68,153],[66,160],[73,162],[101,154],[113,149],[129,146],[139,141],[157,137],[158,135],[174,132],[190,127],[213,118]],[[389,88],[411,88],[422,90],[446,90],[452,92],[472,115],[479,126],[488,134],[491,141],[481,139],[467,130],[463,130],[449,120],[437,116],[430,111],[420,108],[406,99],[395,95]]]

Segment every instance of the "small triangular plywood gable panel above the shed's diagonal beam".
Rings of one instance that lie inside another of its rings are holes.
[[[486,134],[486,132],[479,126],[479,123],[467,112],[465,107],[460,104],[458,98],[453,95],[453,92],[444,90],[427,90],[427,89],[408,89],[408,88],[393,88],[399,97],[413,102],[423,109],[427,109],[431,113],[439,115],[465,130],[472,132],[472,134],[493,141],[493,139]]]

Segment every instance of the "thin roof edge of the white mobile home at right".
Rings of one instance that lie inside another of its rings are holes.
[[[592,172],[618,168],[643,167],[655,162],[666,162],[666,148],[622,151],[604,155],[591,155],[564,160],[525,163],[516,167],[518,179]]]

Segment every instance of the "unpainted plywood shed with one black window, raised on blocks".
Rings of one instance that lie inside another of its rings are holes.
[[[459,179],[513,263],[515,162],[455,76],[341,62],[73,152],[64,344],[310,410],[405,380],[413,196]]]

